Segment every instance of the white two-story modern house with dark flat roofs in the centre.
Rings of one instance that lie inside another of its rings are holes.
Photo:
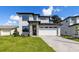
[[[52,35],[60,36],[60,25],[53,24],[49,16],[17,12],[19,16],[19,34],[30,36]]]

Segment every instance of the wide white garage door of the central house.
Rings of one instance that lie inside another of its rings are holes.
[[[57,35],[57,28],[40,28],[39,29],[39,35],[40,36],[44,36],[44,35],[53,35],[56,36]]]

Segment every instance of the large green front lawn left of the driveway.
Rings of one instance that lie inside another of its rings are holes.
[[[0,52],[53,52],[39,37],[0,37]]]

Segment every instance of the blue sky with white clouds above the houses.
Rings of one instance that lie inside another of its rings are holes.
[[[58,15],[62,19],[79,15],[78,6],[0,6],[0,25],[18,25],[16,12],[32,12],[44,16]]]

